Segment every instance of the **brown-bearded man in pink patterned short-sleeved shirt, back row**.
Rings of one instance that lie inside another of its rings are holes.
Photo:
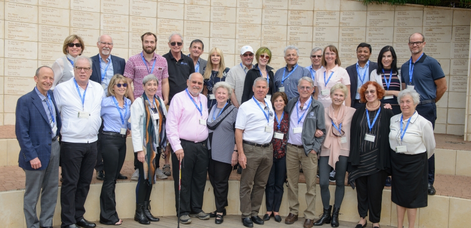
[[[155,36],[155,34],[146,32],[141,36],[141,40],[142,52],[130,57],[126,63],[126,67],[124,68],[123,75],[127,78],[128,85],[131,85],[131,83],[134,84],[134,91],[132,93],[128,93],[128,98],[131,102],[134,102],[134,98],[141,97],[142,93],[144,93],[142,79],[148,74],[153,74],[157,77],[157,80],[159,80],[158,84],[162,85],[157,88],[155,95],[164,100],[165,105],[167,105],[169,102],[167,60],[154,53],[157,44],[157,36]],[[130,86],[129,88],[133,87]],[[134,159],[134,170],[136,171],[131,176],[132,180],[138,180],[139,178],[138,162],[139,161],[137,159]],[[158,167],[159,161],[157,160],[156,168]],[[162,170],[156,169],[156,172],[159,179],[167,178],[167,175],[165,175]]]

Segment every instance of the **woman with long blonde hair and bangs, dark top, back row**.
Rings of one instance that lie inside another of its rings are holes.
[[[208,63],[203,69],[203,94],[208,97],[208,108],[218,103],[213,94],[213,87],[218,82],[226,81],[226,75],[229,70],[224,64],[223,51],[219,48],[211,49],[209,51]]]

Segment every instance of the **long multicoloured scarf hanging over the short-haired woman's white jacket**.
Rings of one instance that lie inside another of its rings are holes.
[[[167,134],[165,133],[167,110],[165,109],[164,111],[162,108],[163,102],[154,95],[153,102],[158,106],[154,108],[157,109],[159,118],[153,121],[149,100],[147,100],[145,93],[142,94],[141,98],[144,106],[144,120],[142,124],[144,128],[142,151],[145,155],[145,162],[142,164],[144,167],[144,179],[148,179],[149,184],[154,184],[157,180],[155,174],[158,165],[156,159],[157,153],[160,153],[159,150],[161,149],[165,150],[167,146]]]

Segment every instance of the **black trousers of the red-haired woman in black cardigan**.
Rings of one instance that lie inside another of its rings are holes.
[[[384,189],[386,177],[387,172],[382,170],[355,179],[358,214],[360,214],[360,217],[365,218],[369,211],[369,218],[372,223],[379,223],[379,219],[381,218],[382,190]]]

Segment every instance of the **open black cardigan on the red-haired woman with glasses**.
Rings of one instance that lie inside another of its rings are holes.
[[[390,153],[392,152],[391,147],[389,146],[389,123],[394,114],[392,113],[392,110],[385,109],[383,103],[381,103],[381,107],[383,108],[381,109],[380,114],[384,117],[379,119],[381,128],[377,135],[379,140],[379,153],[376,168],[389,172],[389,169],[391,168]],[[360,121],[365,112],[366,104],[363,104],[362,107],[355,111],[355,114],[353,114],[352,117],[352,127],[350,129],[350,155],[348,156],[347,167],[348,172],[355,170],[356,166],[360,165],[360,141],[364,139],[360,138],[361,135],[359,130]]]

